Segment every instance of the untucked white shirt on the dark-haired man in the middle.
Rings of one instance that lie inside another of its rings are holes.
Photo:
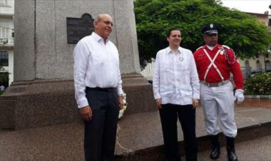
[[[153,72],[154,98],[162,98],[162,104],[192,104],[200,98],[200,83],[193,53],[186,48],[177,52],[164,48],[158,51]]]

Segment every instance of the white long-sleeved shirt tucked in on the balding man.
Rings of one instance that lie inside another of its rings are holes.
[[[116,88],[123,94],[118,49],[95,32],[82,38],[73,51],[74,86],[78,108],[88,105],[86,87]]]

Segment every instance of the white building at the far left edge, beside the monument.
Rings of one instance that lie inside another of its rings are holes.
[[[14,80],[14,0],[0,0],[0,74],[9,81],[1,85],[9,86]]]

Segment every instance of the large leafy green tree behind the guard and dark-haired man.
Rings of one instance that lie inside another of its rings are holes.
[[[218,24],[219,43],[234,49],[239,58],[267,53],[271,38],[255,16],[221,6],[215,0],[136,0],[136,26],[141,69],[157,51],[168,46],[166,31],[178,27],[181,46],[195,51],[204,44],[201,28]]]

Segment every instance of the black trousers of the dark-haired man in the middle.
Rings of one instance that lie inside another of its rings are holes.
[[[195,137],[195,109],[192,105],[164,104],[159,110],[163,129],[165,157],[179,161],[177,120],[183,129],[186,161],[197,160],[198,144]]]

